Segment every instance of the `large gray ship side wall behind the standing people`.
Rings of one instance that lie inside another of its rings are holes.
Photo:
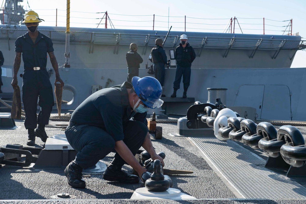
[[[11,93],[14,42],[27,29],[24,25],[2,25],[0,31],[0,46],[5,57],[3,68],[6,68],[2,90]],[[63,99],[68,101],[62,109],[75,109],[92,93],[92,87],[106,88],[125,81],[125,54],[130,43],[137,43],[138,53],[145,59],[140,65],[139,76],[150,76],[145,68],[151,62],[146,59],[155,39],[165,39],[167,34],[166,31],[70,28],[70,67],[65,67],[65,28],[39,26],[39,31],[54,43],[60,75],[65,82]],[[257,119],[306,120],[303,110],[305,68],[289,68],[296,52],[306,47],[300,36],[170,31],[164,45],[168,59],[170,50],[179,45],[179,36],[183,33],[188,36],[188,43],[197,55],[192,63],[188,98],[206,102],[207,88],[227,88],[227,98],[223,103],[254,107]],[[50,61],[47,69],[52,82],[55,76]],[[22,73],[21,62],[18,72],[20,87]],[[168,106],[164,113],[184,115],[194,100],[169,99],[174,76],[174,67],[166,69],[163,94]],[[182,92],[181,87],[177,98]]]

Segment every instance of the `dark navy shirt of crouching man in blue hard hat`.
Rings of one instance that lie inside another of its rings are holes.
[[[124,82],[122,85],[93,93],[75,109],[70,121],[102,128],[115,141],[122,140],[123,124],[132,117],[133,120],[142,121],[147,125],[147,112],[131,112],[127,88],[132,88],[132,84]]]

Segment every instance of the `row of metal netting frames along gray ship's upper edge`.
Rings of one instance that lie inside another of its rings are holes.
[[[26,32],[26,29],[1,28],[0,39],[15,40]],[[39,32],[50,37],[54,43],[65,42],[65,31],[39,30]],[[70,43],[90,43],[91,47],[94,45],[114,45],[114,54],[118,54],[120,45],[137,43],[138,46],[144,47],[143,54],[145,54],[147,47],[155,46],[155,39],[165,39],[165,37],[166,35],[71,31]],[[284,35],[285,37],[287,36]],[[164,47],[175,48],[179,43],[178,35],[168,35]],[[273,38],[192,36],[189,38],[188,43],[192,47],[199,49],[198,55],[203,49],[225,49],[225,57],[231,49],[253,50],[253,52],[254,50],[274,50],[278,52],[279,50],[300,50],[306,48],[306,43],[303,40]]]

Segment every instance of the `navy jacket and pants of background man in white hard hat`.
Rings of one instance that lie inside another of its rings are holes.
[[[187,89],[190,85],[191,63],[196,58],[196,53],[189,43],[187,43],[185,48],[182,47],[182,43],[180,43],[180,45],[175,48],[174,57],[176,59],[177,67],[173,88],[180,88],[180,83],[183,76],[184,89]]]

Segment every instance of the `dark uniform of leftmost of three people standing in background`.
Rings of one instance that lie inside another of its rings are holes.
[[[139,75],[139,68],[140,64],[144,61],[140,54],[138,54],[136,51],[131,50],[126,53],[126,64],[128,65],[128,77],[127,81],[129,83],[132,83],[132,78],[134,76]]]

